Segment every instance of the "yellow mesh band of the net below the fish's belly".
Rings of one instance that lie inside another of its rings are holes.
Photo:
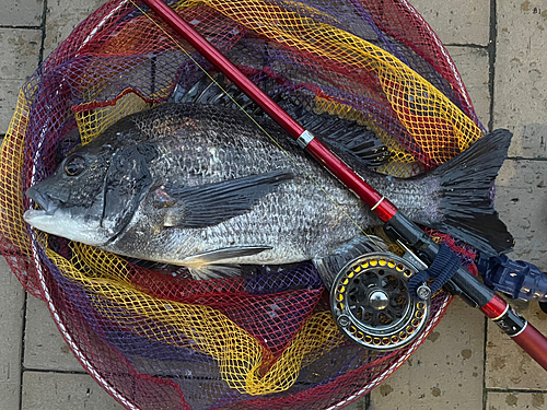
[[[42,238],[47,242],[47,235]],[[44,247],[47,246],[44,245]],[[117,256],[82,244],[73,244],[74,256],[69,261],[51,249],[48,258],[71,281],[95,295],[94,307],[112,320],[127,320],[125,326],[138,336],[154,338],[166,343],[172,335],[162,337],[163,325],[185,335],[187,344],[178,347],[196,349],[218,360],[224,380],[232,388],[249,395],[267,395],[292,386],[300,368],[309,365],[326,351],[344,341],[329,312],[313,315],[303,326],[276,363],[261,374],[263,348],[256,339],[235,325],[225,315],[203,305],[189,305],[159,300],[135,289],[129,281],[126,262]],[[93,276],[88,269],[91,268]],[[119,309],[105,308],[108,305]],[[154,331],[135,318],[148,318],[154,323]]]

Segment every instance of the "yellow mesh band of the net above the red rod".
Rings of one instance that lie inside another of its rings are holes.
[[[421,75],[362,38],[263,1],[184,0],[174,8],[185,9],[200,3],[289,47],[376,73],[399,121],[438,164],[466,150],[482,134],[474,121]],[[249,9],[253,13],[248,12]],[[446,147],[458,151],[446,150]]]

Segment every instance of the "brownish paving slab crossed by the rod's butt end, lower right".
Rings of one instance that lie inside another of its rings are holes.
[[[520,313],[547,335],[547,314],[532,302]],[[487,388],[547,390],[547,377],[532,358],[493,323],[488,324],[485,380]]]

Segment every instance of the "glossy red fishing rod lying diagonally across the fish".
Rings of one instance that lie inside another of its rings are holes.
[[[364,181],[318,139],[314,138],[310,131],[243,74],[237,67],[209,44],[163,0],[144,0],[144,2],[278,122],[302,149],[307,151],[338,180],[353,191],[385,223],[384,230],[391,239],[414,251],[423,266],[431,267],[434,265],[437,256],[442,251],[439,244],[398,211],[387,198]],[[422,298],[429,298],[429,289],[426,285],[418,289],[418,295]],[[462,296],[470,306],[479,308],[488,318],[492,319],[547,371],[547,339],[501,296],[461,266],[449,280],[447,288],[452,294]]]

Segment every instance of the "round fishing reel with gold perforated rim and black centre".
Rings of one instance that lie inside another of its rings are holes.
[[[424,330],[430,298],[408,292],[418,272],[392,253],[363,255],[346,265],[330,291],[333,315],[348,338],[372,350],[389,351],[411,343]]]

